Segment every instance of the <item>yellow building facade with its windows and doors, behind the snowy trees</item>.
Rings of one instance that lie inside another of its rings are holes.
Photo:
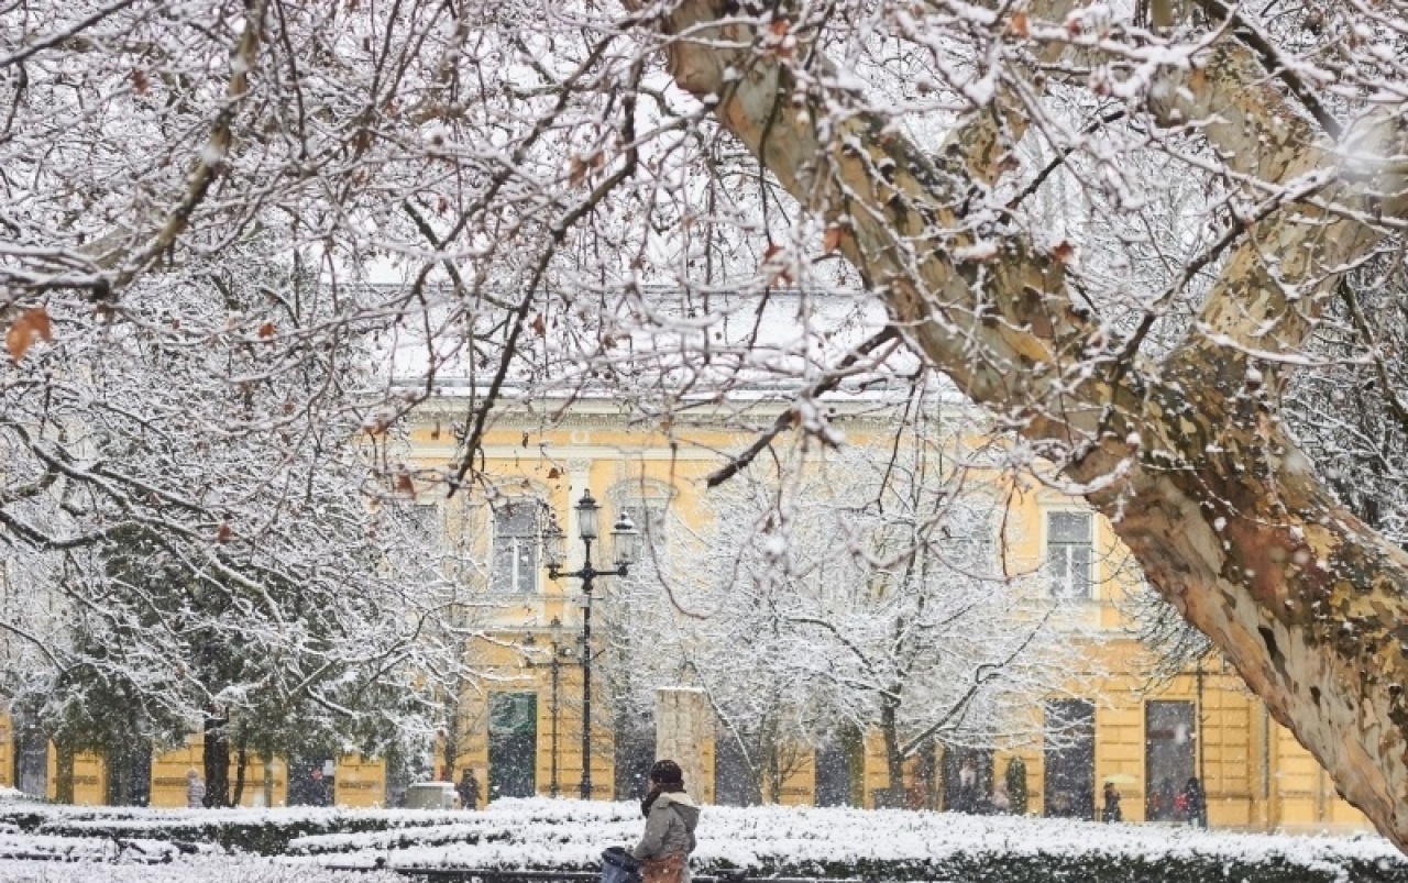
[[[767,427],[777,407],[759,404],[749,414]],[[552,420],[543,414],[555,414]],[[569,538],[567,568],[579,563],[579,524],[573,504],[590,490],[601,504],[605,534],[622,510],[669,511],[686,524],[707,517],[700,500],[705,477],[727,452],[738,451],[753,435],[717,428],[707,408],[667,425],[642,427],[627,420],[611,401],[534,403],[503,408],[484,437],[483,458],[476,461],[474,483],[449,500],[444,486],[428,476],[444,475],[456,456],[453,432],[463,425],[465,400],[445,396],[414,415],[404,438],[380,441],[390,459],[403,465],[418,483],[418,503],[434,513],[446,542],[483,563],[477,576],[465,577],[466,599],[489,603],[493,613],[477,622],[486,639],[472,642],[466,655],[482,677],[466,684],[449,703],[453,722],[435,749],[435,775],[458,777],[476,772],[486,800],[503,796],[560,794],[576,797],[583,780],[582,720],[583,666],[580,583],[548,579],[541,556],[542,518],[552,517]],[[886,438],[893,434],[890,414],[874,406],[838,404],[832,420],[850,439]],[[739,413],[731,411],[736,422]],[[941,421],[942,424],[942,421]],[[973,439],[945,444],[960,448]],[[779,442],[786,444],[786,442]],[[1264,707],[1240,686],[1238,677],[1212,658],[1195,670],[1152,687],[1140,672],[1146,651],[1128,637],[1121,600],[1132,584],[1128,561],[1111,527],[1076,501],[1050,490],[1017,489],[995,475],[1007,500],[1005,524],[1021,524],[1007,553],[1033,572],[1064,562],[1067,570],[1088,570],[1090,589],[1064,604],[1086,628],[1087,672],[1073,672],[1059,699],[1033,696],[1031,738],[1021,745],[979,752],[983,787],[1002,782],[1014,756],[1025,763],[1029,800],[1035,814],[1098,814],[1102,786],[1110,782],[1121,796],[1125,821],[1177,824],[1177,793],[1187,777],[1197,776],[1207,791],[1212,827],[1242,829],[1354,829],[1364,818],[1340,800],[1328,776],[1295,739],[1269,720]],[[521,504],[521,506],[520,506]],[[520,508],[515,508],[520,506]],[[639,518],[638,518],[639,520]],[[1084,558],[1081,558],[1084,556]],[[594,562],[601,566],[603,562]],[[1084,572],[1083,572],[1084,573]],[[610,577],[607,577],[610,579]],[[1042,577],[1046,579],[1046,577]],[[1057,583],[1053,591],[1062,591]],[[482,607],[482,604],[480,604]],[[1094,637],[1091,637],[1094,635]],[[593,645],[593,653],[600,653]],[[610,672],[594,662],[594,676]],[[622,739],[610,706],[593,691],[591,799],[631,799],[618,763]],[[1043,727],[1062,718],[1067,738],[1060,746],[1045,741]],[[18,739],[4,727],[0,738],[0,783],[24,786],[24,769],[34,775],[34,748],[28,766]],[[1070,735],[1074,734],[1074,735]],[[717,787],[724,756],[717,739],[704,732],[696,746],[703,782],[691,783],[705,801],[725,800]],[[903,790],[910,806],[945,806],[945,779],[959,765],[957,752],[943,758],[911,758],[907,780],[888,782],[880,739],[865,734],[853,751],[822,759],[803,748],[803,760],[787,775],[777,793],[763,789],[765,800],[811,804],[829,793],[846,803],[894,804]],[[634,755],[639,765],[641,748]],[[184,806],[184,775],[199,769],[199,739],[153,759],[151,803]],[[383,806],[387,801],[386,765],[377,759],[339,758],[328,770],[335,780],[329,796],[341,806]],[[846,787],[836,790],[838,763]],[[453,769],[451,769],[453,768]],[[54,797],[54,751],[48,751],[45,796]],[[636,770],[638,773],[639,770]],[[101,762],[80,758],[75,770],[75,800],[101,803],[106,779]],[[253,760],[246,769],[246,806],[283,806],[289,769],[275,759],[269,775]],[[301,773],[300,773],[301,775]],[[829,779],[828,779],[829,777]],[[231,772],[234,779],[234,770]],[[829,784],[824,787],[824,780]],[[639,782],[639,776],[634,782]]]

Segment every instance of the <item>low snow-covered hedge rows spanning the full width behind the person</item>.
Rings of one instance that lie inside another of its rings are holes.
[[[0,807],[10,837],[199,841],[307,868],[596,870],[635,804],[501,800],[482,813]],[[23,825],[20,822],[24,822]],[[20,828],[24,831],[20,831]],[[705,807],[696,873],[964,883],[1408,883],[1377,837],[1311,838],[903,810]]]

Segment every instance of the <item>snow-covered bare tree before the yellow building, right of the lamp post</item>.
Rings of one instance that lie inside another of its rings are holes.
[[[760,793],[849,732],[879,731],[893,783],[935,745],[1029,741],[1032,697],[1066,687],[1086,637],[1004,561],[1002,501],[952,448],[922,422],[894,448],[800,445],[705,497],[673,631]]]

